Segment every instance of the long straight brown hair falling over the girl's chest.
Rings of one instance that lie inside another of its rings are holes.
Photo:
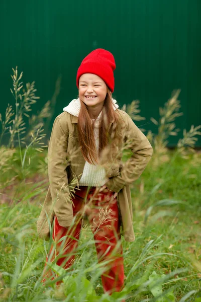
[[[99,148],[96,150],[95,139],[93,134],[94,122],[91,123],[91,118],[88,113],[87,106],[80,99],[80,112],[78,116],[78,137],[82,155],[89,164],[97,163],[100,152],[109,143],[109,130],[111,123],[117,125],[119,114],[114,110],[112,93],[107,88],[107,95],[104,102],[103,112],[99,121]],[[114,127],[113,127],[114,128]],[[97,152],[98,151],[98,152]]]

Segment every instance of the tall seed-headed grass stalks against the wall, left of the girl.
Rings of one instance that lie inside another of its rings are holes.
[[[8,162],[15,160],[14,156],[17,156],[16,147],[19,148],[19,157],[21,162],[21,174],[25,180],[25,163],[27,161],[28,153],[31,149],[35,149],[37,152],[43,152],[44,148],[47,147],[44,144],[44,119],[52,116],[50,106],[51,102],[48,101],[42,108],[41,112],[30,117],[30,112],[32,111],[32,105],[34,105],[39,97],[35,95],[35,82],[27,83],[26,88],[24,88],[22,77],[23,72],[18,76],[18,67],[13,68],[13,89],[11,93],[15,98],[15,111],[12,105],[8,105],[6,109],[5,120],[3,120],[2,115],[0,115],[0,122],[2,124],[2,131],[0,135],[0,145],[6,134],[10,134],[8,147],[14,152],[7,152]],[[58,86],[58,85],[57,85]],[[58,89],[57,89],[58,90]],[[57,95],[58,95],[57,91]],[[56,96],[57,96],[56,95]],[[54,101],[55,98],[54,97]],[[29,120],[31,128],[27,130],[26,120]],[[17,140],[16,140],[17,136]],[[23,150],[23,145],[25,145],[25,151]],[[6,153],[5,153],[6,155]],[[28,160],[28,166],[30,165],[30,156]],[[28,168],[28,167],[27,167]]]

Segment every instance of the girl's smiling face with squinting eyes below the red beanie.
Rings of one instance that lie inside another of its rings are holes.
[[[93,73],[84,73],[79,78],[79,98],[86,106],[103,107],[107,95],[107,85]]]

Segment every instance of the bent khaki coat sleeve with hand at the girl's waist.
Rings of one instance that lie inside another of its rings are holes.
[[[146,168],[153,153],[147,137],[135,125],[130,116],[127,115],[127,117],[125,147],[131,149],[132,155],[123,164],[120,175],[110,178],[106,183],[106,186],[114,192],[119,192],[124,186],[130,185],[137,180]]]

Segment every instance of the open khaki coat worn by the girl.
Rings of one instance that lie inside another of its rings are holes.
[[[130,116],[117,109],[119,127],[114,138],[102,157],[105,168],[106,186],[117,192],[122,235],[126,241],[134,241],[133,209],[130,185],[144,171],[152,156],[152,146],[144,133],[135,125]],[[83,173],[85,160],[82,156],[77,130],[78,118],[68,112],[58,115],[54,121],[48,146],[49,188],[40,216],[37,232],[48,240],[54,215],[61,226],[73,223],[71,194]],[[113,123],[110,125],[110,129]],[[130,150],[130,158],[122,160],[123,149]]]

